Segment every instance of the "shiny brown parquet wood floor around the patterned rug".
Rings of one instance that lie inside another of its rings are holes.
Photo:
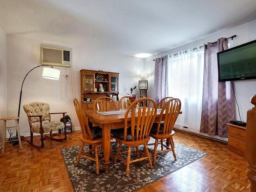
[[[73,191],[61,148],[80,144],[80,133],[68,141],[45,140],[36,148],[23,142],[23,150],[7,144],[0,154],[0,191]],[[142,189],[147,191],[248,191],[245,159],[228,150],[227,144],[176,131],[175,142],[205,151],[208,155]],[[35,137],[39,144],[39,137]]]

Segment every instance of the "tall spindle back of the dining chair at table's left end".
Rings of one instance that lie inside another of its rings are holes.
[[[93,140],[93,136],[92,136],[90,127],[88,125],[88,118],[86,118],[86,115],[83,113],[82,106],[80,102],[77,100],[77,98],[74,98],[74,105],[75,105],[76,115],[81,126],[82,137],[86,140]]]

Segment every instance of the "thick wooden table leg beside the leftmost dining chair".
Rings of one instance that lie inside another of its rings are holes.
[[[105,126],[102,128],[102,146],[104,154],[104,164],[105,164],[105,173],[109,173],[109,164],[110,164],[110,150],[111,150],[111,132],[108,127]]]

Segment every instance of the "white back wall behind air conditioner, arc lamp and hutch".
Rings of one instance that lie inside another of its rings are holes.
[[[141,58],[115,54],[104,47],[89,46],[82,41],[80,44],[63,44],[62,42],[7,35],[8,115],[17,115],[22,80],[30,69],[40,64],[40,44],[72,48],[73,89],[74,97],[78,99],[80,99],[79,71],[81,69],[119,72],[119,97],[125,95],[132,86],[137,85],[139,72],[143,69],[143,59]],[[42,69],[40,68],[33,70],[26,78],[19,123],[22,134],[29,133],[29,124],[23,105],[33,101],[48,102],[51,112],[67,112],[73,120],[74,126],[80,126],[75,114],[73,100],[69,100],[65,94],[65,76],[69,75],[70,82],[70,68],[55,68],[61,71],[58,81],[41,78]],[[72,98],[70,84],[67,93]],[[61,116],[52,117],[53,120],[59,120]]]

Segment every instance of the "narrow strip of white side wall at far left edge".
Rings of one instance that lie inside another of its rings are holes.
[[[7,115],[6,35],[0,26],[0,117]],[[0,122],[0,127],[3,121]],[[1,129],[2,130],[2,129]],[[0,134],[2,141],[2,134]]]

